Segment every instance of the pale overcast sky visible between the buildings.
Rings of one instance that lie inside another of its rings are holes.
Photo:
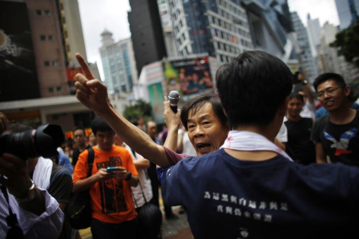
[[[119,41],[131,37],[127,12],[131,11],[128,0],[78,0],[87,60],[97,62],[101,79],[103,69],[100,57],[101,33],[112,32]],[[311,19],[319,18],[320,26],[326,21],[339,25],[335,0],[288,0],[289,10],[296,11],[303,24],[307,25],[307,14]]]

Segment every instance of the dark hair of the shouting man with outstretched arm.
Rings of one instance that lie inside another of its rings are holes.
[[[186,130],[187,128],[187,121],[188,121],[188,113],[190,110],[193,110],[192,113],[197,113],[206,103],[210,103],[212,105],[212,110],[219,118],[223,127],[227,126],[227,117],[224,114],[223,107],[220,103],[218,97],[211,92],[203,92],[196,95],[194,98],[189,100],[181,109],[181,121]]]

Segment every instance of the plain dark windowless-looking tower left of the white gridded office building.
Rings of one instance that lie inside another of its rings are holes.
[[[140,75],[143,66],[167,56],[161,19],[156,0],[129,0],[128,12],[136,67]],[[138,77],[137,75],[137,77]]]

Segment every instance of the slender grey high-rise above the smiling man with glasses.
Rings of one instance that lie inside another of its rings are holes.
[[[297,12],[292,12],[291,16],[299,46],[299,52],[297,53],[299,55],[299,65],[303,71],[302,73],[308,77],[310,83],[313,83],[318,74],[309,43],[308,33]]]

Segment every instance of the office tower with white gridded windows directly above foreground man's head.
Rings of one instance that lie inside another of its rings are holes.
[[[245,9],[239,1],[169,0],[178,55],[208,53],[229,62],[253,50]]]

